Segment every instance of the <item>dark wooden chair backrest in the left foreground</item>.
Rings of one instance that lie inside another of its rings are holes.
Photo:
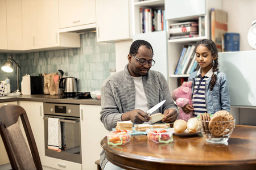
[[[19,117],[30,150],[18,124]],[[14,104],[0,107],[0,133],[13,169],[43,169],[30,122],[22,107]]]

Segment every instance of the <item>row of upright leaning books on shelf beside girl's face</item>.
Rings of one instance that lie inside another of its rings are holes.
[[[174,74],[191,74],[199,70],[196,62],[196,47],[194,45],[184,45]]]

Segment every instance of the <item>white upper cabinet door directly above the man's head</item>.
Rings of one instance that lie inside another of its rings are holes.
[[[96,0],[97,41],[130,39],[129,0]]]

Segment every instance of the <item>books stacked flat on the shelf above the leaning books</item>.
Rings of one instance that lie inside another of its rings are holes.
[[[200,16],[198,20],[170,24],[169,33],[170,40],[204,36],[204,16]]]

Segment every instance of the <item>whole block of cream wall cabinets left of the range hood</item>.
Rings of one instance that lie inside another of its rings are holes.
[[[0,52],[80,47],[79,34],[59,32],[57,0],[1,0],[0,9]]]

